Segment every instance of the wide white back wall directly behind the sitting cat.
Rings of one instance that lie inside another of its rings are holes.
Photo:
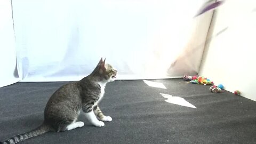
[[[101,57],[118,79],[197,74],[212,12],[204,1],[13,1],[23,82],[77,81]]]

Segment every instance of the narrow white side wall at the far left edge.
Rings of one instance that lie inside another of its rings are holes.
[[[18,82],[11,1],[0,1],[0,87]]]

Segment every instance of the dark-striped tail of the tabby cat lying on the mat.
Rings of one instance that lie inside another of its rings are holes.
[[[7,139],[7,140],[5,140],[3,142],[0,142],[0,144],[14,144],[14,143],[18,143],[18,142],[21,142],[21,141],[24,141],[24,140],[36,137],[38,135],[41,135],[41,134],[49,132],[49,131],[50,131],[49,126],[47,126],[45,124],[42,124],[41,126],[37,127],[34,130],[31,130],[29,132],[25,132],[25,133],[22,133],[22,134],[18,134],[18,135],[14,136],[12,138],[9,138],[9,139]]]

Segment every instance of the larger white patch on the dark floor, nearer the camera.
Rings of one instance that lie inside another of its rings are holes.
[[[165,100],[166,102],[169,103],[173,103],[175,105],[180,105],[180,106],[185,106],[185,107],[190,107],[190,108],[196,108],[194,105],[192,105],[191,103],[187,102],[185,99],[181,98],[181,97],[173,97],[170,94],[164,94],[164,93],[160,93],[164,98],[166,98],[167,100]]]

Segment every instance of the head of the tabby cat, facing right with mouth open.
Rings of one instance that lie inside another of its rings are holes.
[[[101,58],[93,73],[97,73],[103,78],[103,81],[113,82],[116,79],[117,70],[114,69],[110,64],[105,63],[105,61],[106,59],[103,61]]]

